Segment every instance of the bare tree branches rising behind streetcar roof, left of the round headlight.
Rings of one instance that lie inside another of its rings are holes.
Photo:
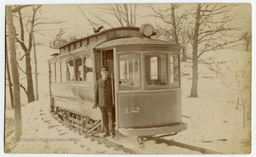
[[[92,27],[100,26],[100,23],[102,23],[102,25],[107,24],[107,26],[110,26],[110,28],[114,28],[114,26],[136,26],[137,4],[106,4],[102,5],[102,7],[99,7],[98,9],[100,9],[102,13],[111,16],[117,21],[110,20],[112,18],[103,19],[101,16],[97,16],[97,13],[95,13],[97,11],[90,12],[92,16],[97,18],[97,21],[100,21],[99,23],[96,23],[92,22],[92,19],[88,18],[85,13],[83,13]],[[82,11],[82,9],[80,10]]]

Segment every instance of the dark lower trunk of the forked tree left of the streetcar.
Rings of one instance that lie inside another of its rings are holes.
[[[33,79],[32,79],[32,68],[31,68],[31,52],[26,53],[26,77],[27,77],[27,91],[28,91],[28,103],[35,101],[35,96],[33,93]]]

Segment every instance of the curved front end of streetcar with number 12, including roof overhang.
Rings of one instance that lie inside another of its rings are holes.
[[[151,136],[187,129],[181,116],[178,45],[148,38],[122,38],[96,49],[113,52],[119,133]]]

